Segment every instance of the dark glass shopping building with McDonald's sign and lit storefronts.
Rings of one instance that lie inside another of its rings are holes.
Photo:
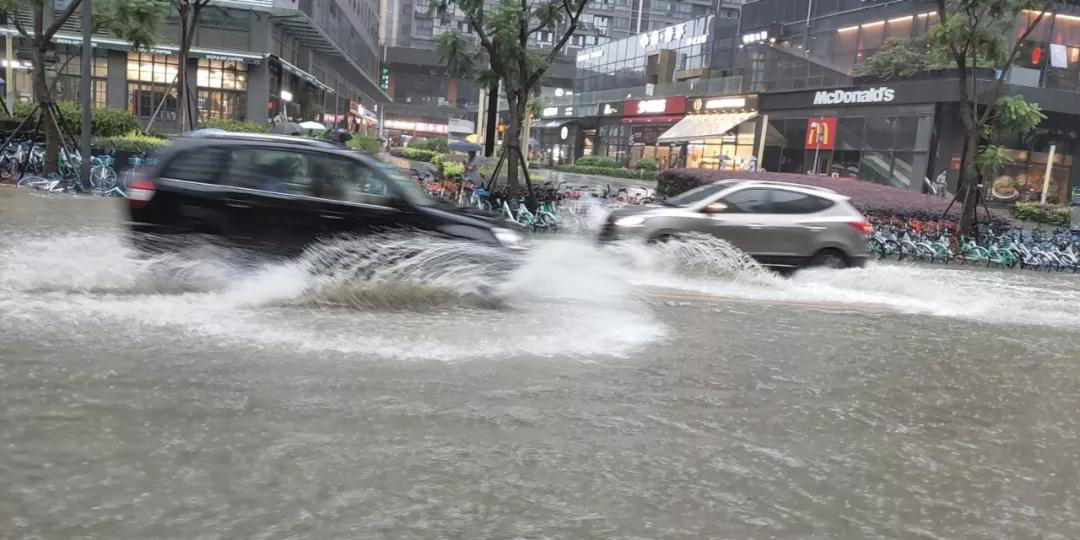
[[[1009,37],[1018,39],[1036,15],[1024,12]],[[944,174],[955,192],[963,140],[955,72],[881,81],[858,69],[887,40],[924,36],[937,24],[936,2],[757,0],[735,21],[692,23],[578,52],[575,95],[550,105],[594,111],[576,120],[592,140],[566,147],[577,154],[559,152],[564,161],[593,152],[626,165],[759,166],[915,191]],[[985,103],[991,85],[981,87]],[[1049,173],[1048,201],[1067,201],[1080,185],[1077,2],[1056,4],[1022,43],[1004,94],[1038,103],[1048,118],[1031,133],[995,140],[1013,161],[988,195],[1039,200]]]

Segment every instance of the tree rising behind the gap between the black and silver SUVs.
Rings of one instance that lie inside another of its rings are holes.
[[[528,163],[522,152],[522,131],[529,100],[577,30],[578,19],[589,0],[488,0],[491,5],[485,3],[484,0],[432,0],[431,12],[445,16],[456,8],[462,13],[487,57],[487,67],[478,67],[484,64],[477,63],[481,55],[475,44],[456,30],[438,36],[435,53],[457,77],[474,73],[476,81],[488,87],[502,82],[510,112],[503,136],[507,178],[510,192],[516,193],[521,189],[518,165],[527,167]],[[558,36],[546,52],[529,48],[532,36],[540,31]],[[529,205],[532,205],[527,172],[525,181],[529,188]]]

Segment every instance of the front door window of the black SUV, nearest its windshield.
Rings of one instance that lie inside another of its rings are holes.
[[[348,158],[313,154],[311,194],[337,201],[389,206],[393,191],[370,168]]]

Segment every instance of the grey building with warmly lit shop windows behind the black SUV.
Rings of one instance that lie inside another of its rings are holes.
[[[32,15],[24,10],[29,27]],[[268,122],[320,120],[356,131],[372,129],[374,111],[389,98],[378,77],[377,0],[251,0],[207,5],[195,30],[187,70],[198,120]],[[54,66],[60,99],[78,98],[78,14],[56,35]],[[29,43],[13,25],[15,58],[9,99],[32,98]],[[149,51],[108,35],[93,37],[95,106],[130,110],[154,130],[176,125],[178,21],[170,13]],[[72,58],[68,62],[68,58]]]

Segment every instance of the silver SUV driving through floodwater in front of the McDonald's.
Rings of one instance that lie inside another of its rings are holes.
[[[759,180],[720,180],[660,206],[617,211],[600,240],[664,241],[686,232],[727,240],[766,266],[863,266],[869,254],[866,218],[835,191]]]

